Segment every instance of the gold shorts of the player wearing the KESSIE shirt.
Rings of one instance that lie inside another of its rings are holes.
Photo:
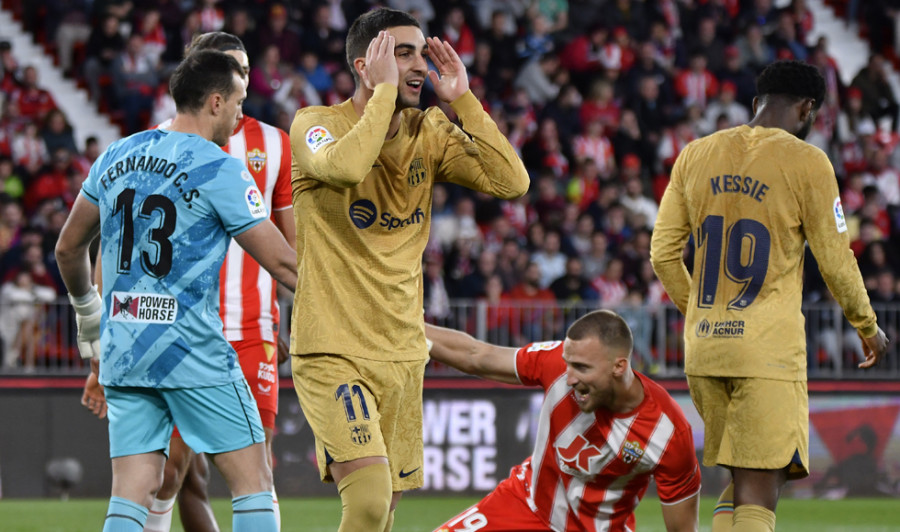
[[[703,465],[788,470],[809,475],[806,382],[688,375],[705,425]]]

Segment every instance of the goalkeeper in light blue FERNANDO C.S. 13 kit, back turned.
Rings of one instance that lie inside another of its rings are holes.
[[[231,237],[279,282],[297,281],[294,252],[252,177],[220,149],[241,118],[242,75],[224,53],[188,56],[170,81],[172,125],[97,159],[56,247],[79,350],[99,356],[106,387],[113,482],[104,531],[143,529],[174,423],[222,472],[233,529],[276,530],[259,412],[218,313]],[[88,252],[98,234],[102,300]]]

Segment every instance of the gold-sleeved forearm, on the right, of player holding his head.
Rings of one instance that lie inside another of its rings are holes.
[[[466,92],[451,107],[474,146],[464,145],[461,153],[450,155],[449,181],[501,199],[528,192],[530,180],[522,159],[475,95]]]

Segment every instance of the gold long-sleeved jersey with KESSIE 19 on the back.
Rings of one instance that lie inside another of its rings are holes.
[[[682,251],[691,236],[689,275]],[[806,379],[800,305],[807,242],[847,319],[873,336],[875,314],[822,150],[782,129],[745,125],[682,151],[650,253],[686,316],[685,373]]]

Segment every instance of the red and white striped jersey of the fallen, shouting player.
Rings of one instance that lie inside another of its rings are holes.
[[[528,505],[552,530],[633,531],[652,476],[662,504],[700,491],[691,427],[666,391],[635,372],[644,400],[631,412],[582,412],[566,384],[562,342],[516,352],[522,384],[545,396],[534,452],[514,468]]]

